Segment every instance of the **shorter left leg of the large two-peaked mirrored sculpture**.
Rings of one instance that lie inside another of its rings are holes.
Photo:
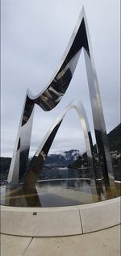
[[[33,115],[34,104],[26,96],[19,124],[19,131],[15,142],[15,150],[7,178],[8,187],[17,186],[19,180],[23,177],[23,174],[27,169]]]

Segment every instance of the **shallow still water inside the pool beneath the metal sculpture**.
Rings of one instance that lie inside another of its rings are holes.
[[[120,195],[120,183],[115,183],[116,195]],[[109,187],[104,191],[100,181],[96,187],[90,178],[60,178],[40,180],[35,187],[1,187],[1,204],[15,207],[58,207],[91,204],[111,199]]]

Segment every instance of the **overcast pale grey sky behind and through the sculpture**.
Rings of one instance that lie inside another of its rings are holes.
[[[106,131],[119,116],[119,0],[2,0],[1,155],[11,157],[27,88],[40,93],[55,72],[84,5]],[[81,99],[94,126],[83,52],[69,89],[55,109],[35,107],[31,155],[56,116],[72,99]],[[77,113],[72,110],[61,124],[51,153],[68,149],[85,151]]]

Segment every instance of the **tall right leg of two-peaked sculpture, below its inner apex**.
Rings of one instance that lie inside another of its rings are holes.
[[[93,119],[94,119],[94,132],[98,146],[98,158],[101,166],[105,186],[115,187],[115,178],[113,174],[111,155],[108,148],[105,122],[102,113],[102,104],[100,93],[98,90],[98,80],[96,73],[94,73],[93,65],[90,57],[85,52],[87,78],[90,90],[90,102],[92,106]]]

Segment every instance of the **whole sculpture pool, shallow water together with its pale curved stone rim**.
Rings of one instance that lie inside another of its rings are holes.
[[[110,199],[110,190],[106,188],[109,199],[104,200],[100,183],[97,195],[90,184],[89,178],[70,178],[41,181],[36,187],[2,187],[1,204],[9,206],[1,206],[1,232],[27,237],[58,237],[119,225],[120,197]],[[119,193],[120,182],[115,185]],[[100,202],[94,203],[97,199]],[[50,207],[52,204],[63,207]],[[67,206],[69,204],[73,206]],[[45,207],[47,205],[49,207]]]

